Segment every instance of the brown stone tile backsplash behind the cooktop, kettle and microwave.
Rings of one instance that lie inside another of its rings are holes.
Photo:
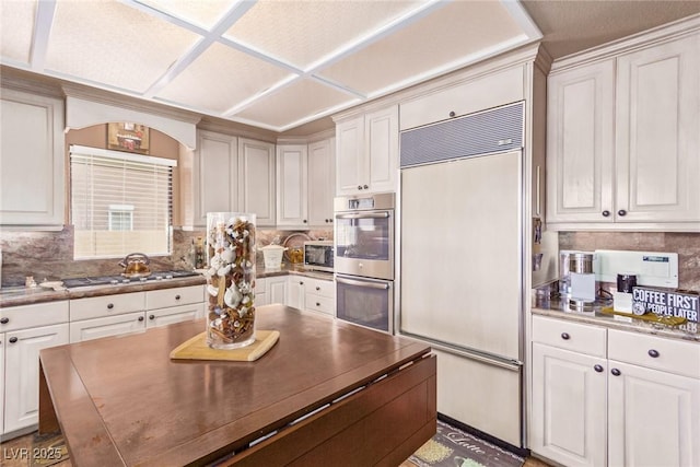
[[[257,243],[258,246],[265,246],[277,236],[284,243],[288,236],[295,233],[302,232],[258,227]],[[332,238],[332,230],[303,233],[312,240]],[[173,231],[172,255],[150,257],[151,270],[191,269],[190,248],[192,240],[198,236],[206,236],[205,230]],[[23,285],[26,276],[34,276],[39,282],[44,279],[113,276],[122,270],[118,265],[122,258],[74,260],[72,225],[66,225],[58,232],[0,231],[0,250],[2,287]]]

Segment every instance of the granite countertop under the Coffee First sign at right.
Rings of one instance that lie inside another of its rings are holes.
[[[533,315],[550,316],[559,319],[571,319],[611,329],[642,332],[658,337],[680,339],[700,342],[700,330],[697,323],[686,323],[679,326],[667,326],[635,319],[627,316],[617,316],[602,313],[603,307],[612,306],[611,300],[597,300],[591,312],[575,312],[569,310],[569,302],[564,297],[552,296],[548,288],[534,289],[532,293]]]

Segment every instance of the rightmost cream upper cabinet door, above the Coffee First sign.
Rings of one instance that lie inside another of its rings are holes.
[[[700,35],[621,56],[617,221],[700,221]]]

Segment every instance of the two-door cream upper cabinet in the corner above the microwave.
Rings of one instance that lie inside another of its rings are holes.
[[[332,226],[335,139],[277,147],[277,226]]]

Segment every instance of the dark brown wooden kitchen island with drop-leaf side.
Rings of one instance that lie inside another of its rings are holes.
[[[282,305],[255,362],[171,360],[205,320],[40,352],[39,431],[73,465],[387,465],[435,432],[430,348]]]

